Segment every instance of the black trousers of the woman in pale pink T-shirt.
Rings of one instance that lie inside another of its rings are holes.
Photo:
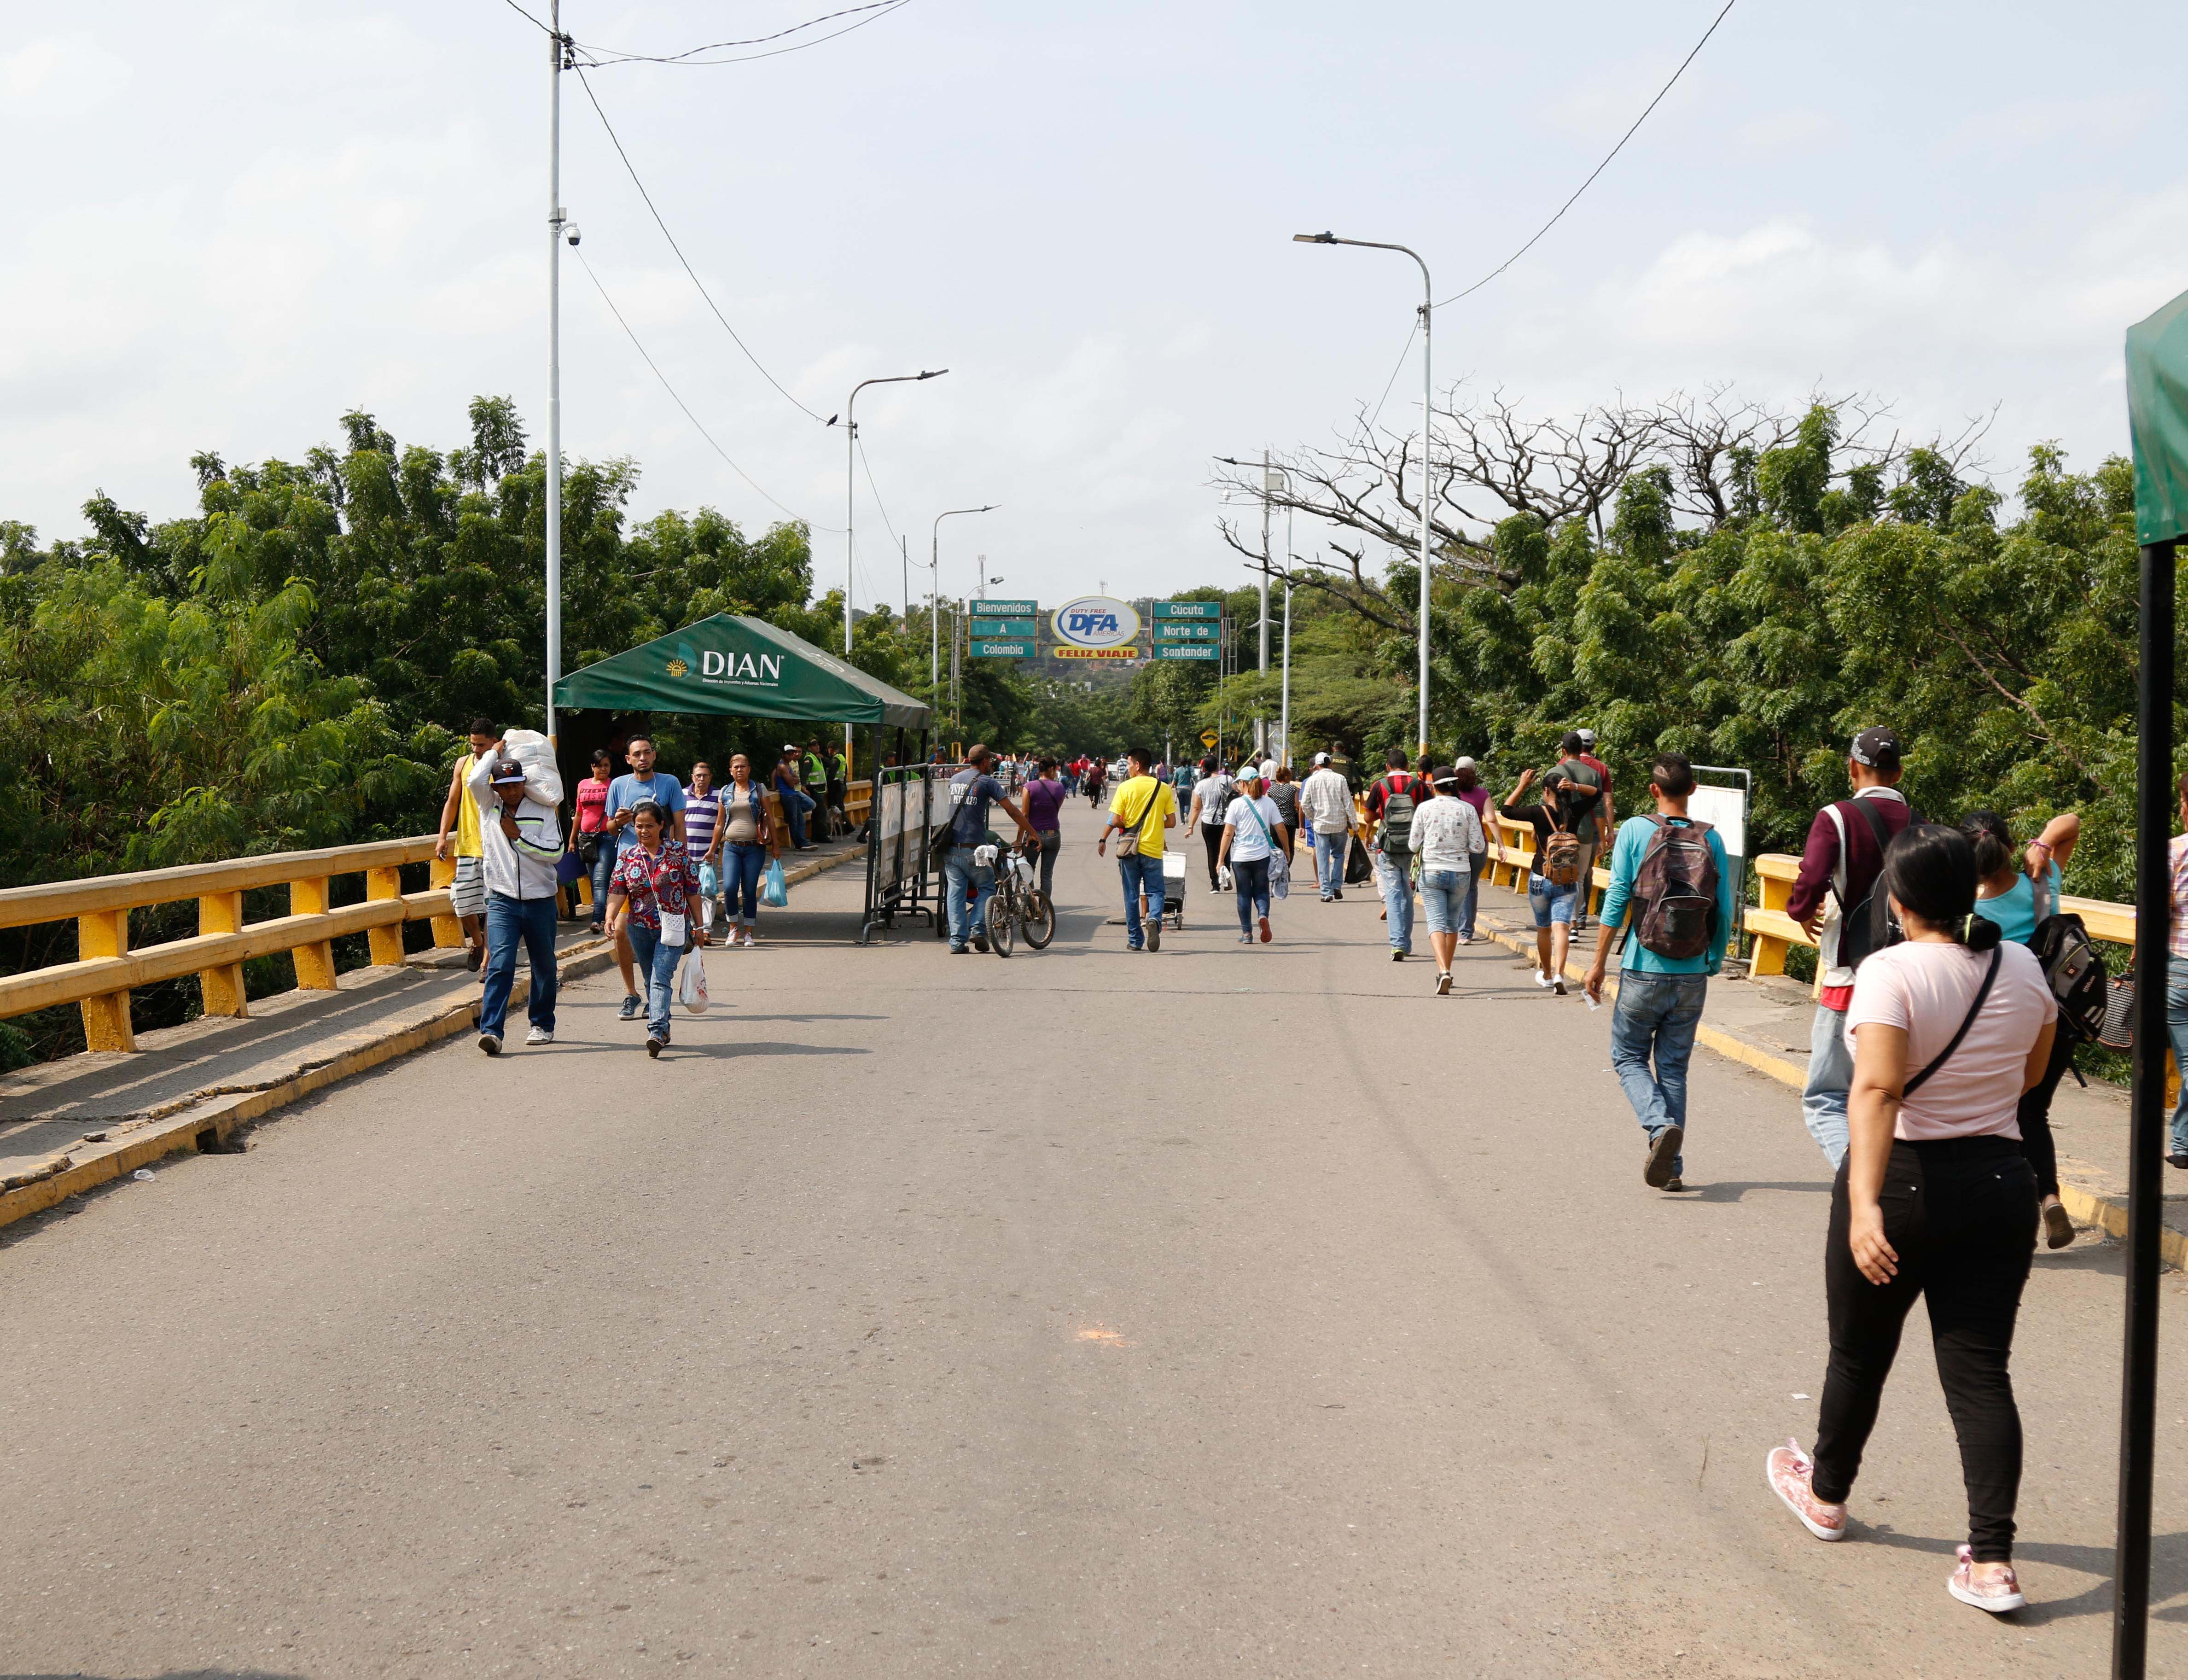
[[[2035,1172],[2011,1138],[1895,1142],[1882,1205],[1899,1275],[1871,1284],[1847,1249],[1847,1168],[1838,1168],[1823,1256],[1831,1365],[1816,1422],[1816,1498],[1842,1503],[1853,1492],[1899,1330],[1921,1295],[1936,1380],[1960,1439],[1967,1540],[1978,1564],[2004,1564],[2022,1488],[2022,1413],[2006,1361],[2037,1247]]]

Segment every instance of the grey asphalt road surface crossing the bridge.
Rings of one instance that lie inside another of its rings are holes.
[[[1433,998],[1363,890],[1247,949],[1199,882],[1129,956],[1083,812],[1044,954],[853,949],[829,875],[659,1063],[602,976],[7,1232],[0,1671],[2103,1671],[2118,1247],[2037,1260],[1991,1621],[1919,1323],[1851,1542],[1764,1488],[1825,1352],[1792,1092],[1698,1052],[1645,1190],[1578,995],[1477,945]]]

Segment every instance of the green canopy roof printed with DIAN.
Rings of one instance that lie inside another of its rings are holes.
[[[554,685],[558,707],[926,728],[932,709],[766,619],[715,612]]]

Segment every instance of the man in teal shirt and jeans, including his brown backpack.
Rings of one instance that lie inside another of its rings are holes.
[[[1621,938],[1610,1068],[1648,1133],[1641,1181],[1685,1190],[1687,1061],[1709,976],[1724,967],[1739,906],[1724,840],[1687,816],[1694,766],[1678,752],[1659,752],[1648,790],[1656,812],[1626,818],[1610,851],[1610,890],[1586,993],[1591,1004],[1602,1002],[1610,941]]]

